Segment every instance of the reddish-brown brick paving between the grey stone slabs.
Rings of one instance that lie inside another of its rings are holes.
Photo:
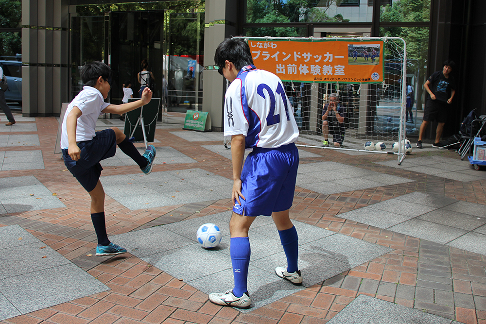
[[[18,122],[20,124],[21,122]],[[463,183],[437,176],[374,164],[395,158],[385,154],[347,155],[307,148],[321,157],[301,163],[333,161],[414,180],[410,183],[322,195],[296,188],[291,217],[394,251],[347,272],[298,291],[277,302],[242,314],[208,302],[208,296],[179,278],[163,273],[129,254],[94,256],[96,236],[89,217],[89,196],[54,155],[57,121],[36,118],[40,147],[2,147],[1,151],[42,150],[45,170],[0,171],[0,177],[35,176],[66,208],[0,215],[0,226],[18,224],[111,290],[41,309],[0,323],[327,323],[359,294],[417,308],[463,323],[486,324],[486,256],[339,218],[339,214],[420,191],[471,203],[486,204],[484,181]],[[156,139],[197,160],[196,167],[231,179],[231,163],[202,145],[157,129]],[[11,132],[10,135],[26,134]],[[142,146],[142,144],[137,144]],[[222,148],[223,149],[223,148]],[[459,159],[457,153],[434,154]],[[413,158],[413,156],[407,157]],[[195,164],[163,164],[153,171],[194,168]],[[130,174],[133,166],[106,167],[103,175]],[[103,179],[102,179],[103,181]],[[231,208],[229,199],[188,205],[130,210],[106,197],[109,235],[210,215]],[[92,254],[93,256],[87,256]]]

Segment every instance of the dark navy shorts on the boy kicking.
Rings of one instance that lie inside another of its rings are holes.
[[[98,184],[101,171],[100,161],[115,156],[117,151],[117,137],[115,131],[108,128],[96,132],[93,139],[78,143],[81,158],[73,161],[68,149],[62,150],[64,164],[69,172],[79,181],[87,192],[92,191]]]

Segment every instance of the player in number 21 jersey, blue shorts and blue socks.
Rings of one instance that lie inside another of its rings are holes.
[[[275,273],[302,284],[297,266],[298,236],[289,218],[295,192],[299,132],[285,88],[273,73],[253,65],[248,44],[226,39],[214,55],[218,72],[231,82],[225,96],[225,136],[231,136],[233,214],[229,223],[234,288],[211,293],[218,305],[249,308],[247,290],[250,241],[248,230],[256,216],[272,216],[287,257],[287,267]],[[253,149],[244,161],[245,149]]]

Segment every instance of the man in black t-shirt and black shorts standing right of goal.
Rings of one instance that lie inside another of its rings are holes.
[[[447,120],[448,104],[451,104],[456,89],[454,77],[451,75],[454,61],[447,60],[443,63],[443,66],[442,71],[432,73],[424,84],[424,88],[427,91],[427,99],[417,141],[419,149],[422,148],[422,136],[431,121],[437,121],[438,123],[435,131],[435,141],[432,146],[442,146],[439,140]]]

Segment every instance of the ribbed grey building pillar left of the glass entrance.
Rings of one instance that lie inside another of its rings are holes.
[[[53,116],[68,100],[69,1],[22,0],[22,115]]]

